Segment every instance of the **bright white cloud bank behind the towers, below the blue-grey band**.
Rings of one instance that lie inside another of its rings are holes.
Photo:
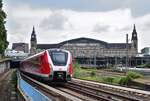
[[[149,19],[150,14],[134,18],[129,8],[107,12],[79,12],[18,6],[13,7],[11,13],[8,11],[8,41],[29,43],[32,26],[35,25],[38,43],[58,43],[77,37],[123,43],[126,40],[126,33],[131,39],[135,23],[141,49],[150,46],[148,39],[150,30],[146,25],[149,25]],[[105,28],[107,30],[104,30]]]

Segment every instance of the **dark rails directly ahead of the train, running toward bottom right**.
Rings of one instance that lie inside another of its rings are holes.
[[[68,82],[65,87],[77,91],[78,93],[84,94],[86,96],[92,97],[95,100],[105,100],[105,101],[141,101],[136,98],[129,96],[124,96],[115,92],[100,89],[98,87],[93,87],[89,85]]]

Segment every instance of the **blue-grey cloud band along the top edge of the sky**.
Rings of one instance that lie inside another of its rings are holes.
[[[36,2],[36,3],[35,3]],[[118,8],[130,8],[133,16],[142,16],[150,12],[150,0],[7,0],[9,6],[27,4],[31,7],[50,9],[72,9],[77,11],[110,11]]]

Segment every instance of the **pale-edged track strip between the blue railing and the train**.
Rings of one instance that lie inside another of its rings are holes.
[[[81,95],[78,91],[69,92],[69,89],[65,91],[65,84],[47,85],[38,82],[24,74],[21,74],[22,78],[32,86],[36,87],[39,91],[42,91],[46,96],[57,99],[56,101],[97,101],[95,98],[90,98],[89,95]],[[68,84],[68,83],[66,83]],[[51,88],[52,87],[52,88]],[[66,97],[67,96],[67,97]],[[94,96],[94,95],[93,95]],[[111,101],[105,97],[99,97],[99,101]]]

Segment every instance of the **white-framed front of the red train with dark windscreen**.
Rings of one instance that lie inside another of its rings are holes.
[[[51,67],[50,80],[70,81],[72,77],[72,57],[69,51],[48,50]]]

